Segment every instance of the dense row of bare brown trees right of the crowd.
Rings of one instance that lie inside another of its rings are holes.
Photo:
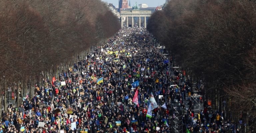
[[[214,108],[225,100],[228,118],[256,120],[255,2],[171,0],[147,29],[204,80]]]

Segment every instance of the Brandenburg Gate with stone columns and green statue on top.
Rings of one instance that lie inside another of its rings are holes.
[[[128,17],[132,19],[132,27],[134,26],[134,17],[139,17],[139,28],[141,28],[141,17],[144,17],[144,28],[146,28],[146,17],[150,17],[152,14],[151,10],[139,10],[137,6],[134,6],[132,10],[121,10],[120,19],[121,27],[123,27],[123,21],[126,20],[126,27],[128,25]]]

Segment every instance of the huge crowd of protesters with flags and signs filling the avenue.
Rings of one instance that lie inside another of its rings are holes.
[[[76,72],[35,86],[32,99],[3,112],[0,133],[170,133],[172,102],[183,109],[183,132],[239,132],[207,103],[194,114],[190,80],[171,65],[146,30],[122,29],[74,64]]]

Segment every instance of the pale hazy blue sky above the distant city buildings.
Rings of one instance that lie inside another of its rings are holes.
[[[118,8],[119,0],[102,0],[102,1],[113,3],[113,5],[116,6],[116,8]],[[143,3],[143,4],[147,4],[148,7],[157,7],[165,3],[165,0],[130,0],[130,1],[131,1],[131,6],[133,6],[135,2],[137,2],[137,5]],[[128,0],[128,4],[129,4],[129,0]]]

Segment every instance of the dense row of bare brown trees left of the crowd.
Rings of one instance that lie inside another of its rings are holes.
[[[0,106],[6,109],[8,87],[19,103],[120,28],[101,0],[1,0]]]

